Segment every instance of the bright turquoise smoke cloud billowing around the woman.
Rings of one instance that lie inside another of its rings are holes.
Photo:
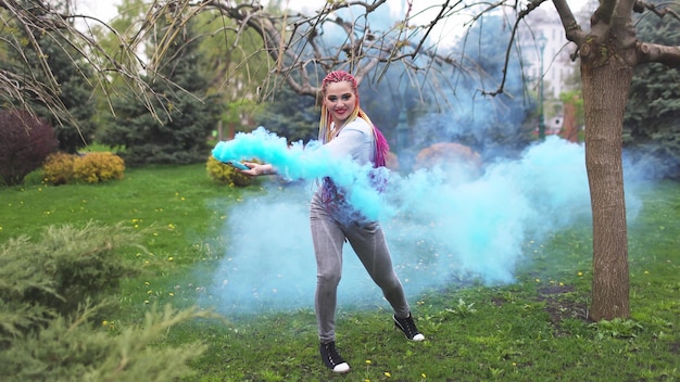
[[[362,180],[369,168],[333,162],[314,143],[289,147],[264,128],[218,143],[213,155],[256,157],[302,179],[288,187],[272,182],[266,193],[248,193],[229,207],[229,245],[209,289],[211,304],[223,313],[314,306],[307,208],[319,176],[340,179],[356,208],[380,218],[412,302],[427,290],[456,283],[511,283],[527,242],[540,243],[591,214],[584,148],[557,137],[530,147],[519,160],[489,165],[478,177],[453,164],[391,174],[383,193]],[[640,202],[627,198],[634,216]],[[249,229],[240,232],[244,224]],[[350,245],[338,293],[340,306],[389,308]]]

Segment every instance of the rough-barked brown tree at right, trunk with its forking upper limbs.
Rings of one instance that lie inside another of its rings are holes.
[[[591,320],[627,318],[628,231],[624,192],[622,126],[633,68],[658,62],[680,66],[680,47],[638,40],[633,12],[653,5],[635,0],[601,0],[584,33],[566,0],[553,0],[567,39],[578,46],[585,112],[585,166],[593,215]],[[670,12],[676,17],[677,14]]]

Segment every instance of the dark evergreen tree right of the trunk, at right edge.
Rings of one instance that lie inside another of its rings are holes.
[[[673,9],[679,10],[678,7]],[[680,21],[647,15],[637,22],[646,40],[680,46]],[[680,72],[662,64],[635,67],[626,106],[624,145],[633,162],[645,162],[652,179],[680,179]]]

